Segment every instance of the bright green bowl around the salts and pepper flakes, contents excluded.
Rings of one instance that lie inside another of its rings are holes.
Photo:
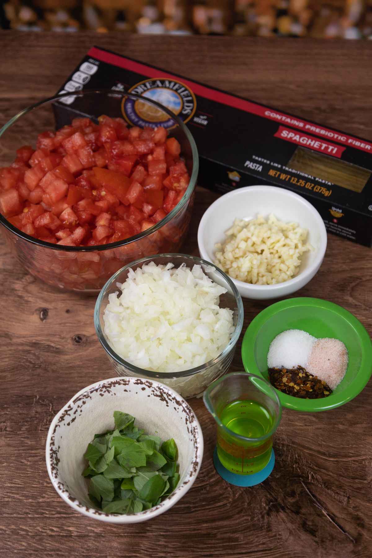
[[[344,405],[362,391],[372,372],[370,336],[350,312],[322,299],[298,297],[282,300],[260,312],[245,331],[241,346],[246,372],[269,381],[267,354],[270,343],[287,329],[302,329],[317,338],[340,339],[349,352],[349,365],[332,395],[322,399],[300,399],[278,391],[283,407],[295,411],[327,411]]]

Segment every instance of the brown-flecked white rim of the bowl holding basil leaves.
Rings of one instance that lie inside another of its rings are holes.
[[[93,519],[98,519],[99,521],[104,521],[104,522],[108,522],[108,523],[139,523],[139,522],[142,522],[142,521],[147,521],[147,519],[151,519],[152,517],[156,517],[156,516],[160,515],[161,513],[166,512],[176,502],[178,502],[178,500],[180,500],[182,498],[182,496],[184,494],[186,494],[186,492],[194,484],[195,479],[196,479],[197,475],[199,474],[199,470],[200,470],[201,463],[202,463],[202,458],[203,458],[203,453],[204,453],[204,437],[203,437],[203,433],[202,433],[202,430],[201,430],[201,426],[199,424],[199,421],[197,420],[197,416],[196,416],[194,410],[192,410],[189,403],[187,403],[187,401],[179,393],[174,391],[174,389],[166,386],[165,384],[162,384],[161,382],[157,382],[157,381],[151,379],[151,380],[148,380],[148,382],[151,383],[151,386],[147,386],[147,387],[161,386],[161,388],[163,390],[167,391],[172,397],[177,398],[177,400],[180,401],[180,403],[182,403],[183,408],[186,408],[187,412],[189,412],[190,415],[194,419],[193,422],[192,422],[192,425],[196,427],[196,431],[197,431],[197,434],[196,434],[196,454],[195,454],[195,459],[197,460],[197,466],[196,466],[196,468],[190,469],[190,471],[188,472],[189,476],[187,477],[187,480],[188,480],[187,484],[182,483],[182,484],[178,485],[176,487],[176,489],[172,492],[172,494],[170,494],[170,496],[168,496],[165,500],[163,500],[163,502],[161,502],[157,506],[154,506],[150,509],[144,510],[143,512],[138,512],[138,513],[135,513],[135,514],[115,514],[115,513],[104,513],[104,512],[101,512],[100,514],[98,514],[98,513],[96,513],[97,510],[95,508],[86,507],[77,498],[75,498],[72,494],[70,494],[68,490],[61,489],[58,486],[59,477],[54,478],[53,475],[52,475],[51,459],[50,459],[50,446],[51,446],[52,435],[54,434],[55,427],[57,425],[57,422],[59,422],[62,413],[64,413],[66,410],[69,410],[70,406],[74,407],[75,400],[77,398],[79,398],[81,395],[83,395],[84,393],[96,391],[96,388],[98,388],[100,386],[104,386],[105,384],[112,383],[112,382],[114,382],[115,384],[123,383],[123,386],[127,386],[128,383],[124,383],[124,382],[128,382],[128,380],[129,380],[129,382],[138,381],[138,378],[131,377],[131,376],[128,376],[128,377],[126,376],[125,378],[124,377],[122,377],[122,378],[120,378],[120,377],[108,378],[108,379],[100,380],[99,382],[95,382],[93,384],[90,384],[90,386],[84,387],[83,389],[80,389],[80,391],[78,393],[75,393],[75,395],[73,397],[71,397],[70,401],[68,401],[66,403],[66,405],[64,405],[61,408],[61,410],[59,412],[57,412],[57,414],[55,415],[54,419],[52,420],[52,422],[49,426],[47,439],[46,439],[46,446],[45,446],[45,460],[46,460],[47,472],[49,474],[49,478],[51,480],[52,485],[54,486],[56,492],[59,494],[59,496],[62,498],[62,500],[64,500],[67,504],[69,504],[69,506],[71,508],[73,508],[75,511],[78,511],[79,513],[82,513],[84,516],[87,516],[87,517],[90,517],[90,518],[93,518]],[[102,398],[102,401],[104,401],[104,396]],[[186,423],[185,423],[185,427],[187,427]]]

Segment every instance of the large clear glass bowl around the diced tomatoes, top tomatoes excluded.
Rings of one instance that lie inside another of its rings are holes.
[[[23,233],[0,214],[1,229],[12,254],[31,275],[49,285],[70,291],[99,292],[108,278],[126,263],[151,254],[177,252],[185,238],[199,170],[195,141],[180,118],[161,104],[140,95],[114,90],[74,92],[21,110],[0,129],[0,167],[15,160],[18,147],[36,146],[38,133],[71,124],[76,117],[95,119],[101,114],[123,117],[122,107],[127,99],[140,102],[142,113],[155,114],[156,122],[143,121],[143,126],[157,127],[162,121],[171,124],[168,137],[175,137],[181,144],[181,156],[190,176],[189,186],[176,207],[153,227],[102,246],[71,247],[44,242]]]

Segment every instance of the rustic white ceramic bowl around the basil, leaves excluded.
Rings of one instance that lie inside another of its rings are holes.
[[[180,482],[163,502],[133,515],[103,513],[88,497],[88,481],[81,476],[84,453],[94,434],[114,426],[114,411],[136,417],[135,425],[162,440],[174,438],[178,447]],[[203,456],[200,424],[186,401],[173,389],[141,378],[111,378],[88,386],[52,420],[46,440],[50,480],[64,501],[76,511],[108,523],[138,523],[170,509],[192,487]]]

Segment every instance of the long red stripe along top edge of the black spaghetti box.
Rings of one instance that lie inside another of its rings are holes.
[[[322,138],[326,139],[327,137],[331,137],[332,140],[338,143],[348,145],[361,151],[372,153],[372,143],[365,142],[360,138],[347,136],[347,134],[344,134],[342,132],[337,132],[336,130],[332,130],[330,128],[318,126],[317,124],[302,120],[301,118],[293,117],[290,114],[279,112],[278,110],[264,107],[263,105],[253,103],[252,101],[247,101],[245,99],[240,99],[239,97],[234,97],[234,95],[229,95],[228,93],[224,93],[216,89],[211,89],[210,87],[206,87],[205,85],[195,83],[194,81],[190,81],[177,75],[169,74],[163,70],[151,68],[151,66],[141,64],[141,62],[136,62],[134,60],[125,58],[124,56],[113,54],[113,52],[107,52],[97,49],[96,47],[92,47],[88,52],[88,56],[92,56],[102,62],[107,62],[107,64],[112,64],[114,66],[119,66],[119,68],[124,68],[125,70],[136,72],[137,74],[146,75],[151,79],[165,78],[181,81],[183,84],[187,85],[187,87],[189,87],[194,93],[196,93],[196,95],[200,95],[200,97],[216,101],[217,103],[226,104],[229,107],[245,110],[245,112],[257,114],[257,116],[267,118],[268,120],[273,120],[276,122],[282,121],[289,126],[293,126],[294,128],[304,130],[307,129],[308,131],[312,132],[313,134],[317,134]],[[332,155],[332,153],[329,153],[329,155]]]

